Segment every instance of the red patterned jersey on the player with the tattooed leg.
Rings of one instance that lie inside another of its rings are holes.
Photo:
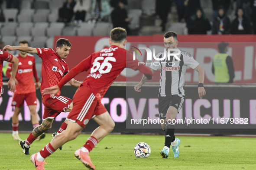
[[[41,92],[58,84],[62,77],[69,72],[68,64],[61,60],[59,55],[51,48],[36,48],[38,56],[42,58]],[[60,95],[59,91],[57,95]]]

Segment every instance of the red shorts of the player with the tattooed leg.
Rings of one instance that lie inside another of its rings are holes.
[[[48,94],[43,96],[42,103],[45,106],[43,120],[54,119],[61,112],[65,112],[65,110],[68,109],[69,105],[72,103],[72,99],[58,95],[54,95],[50,98],[50,94]]]

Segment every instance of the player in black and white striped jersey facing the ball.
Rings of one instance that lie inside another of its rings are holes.
[[[174,56],[170,56],[168,60],[168,49],[177,48],[178,45],[177,34],[175,32],[170,31],[165,33],[164,45],[166,50],[156,54],[156,58],[164,58],[164,53],[166,53],[165,59],[161,61],[154,60],[153,63],[160,62],[160,65],[155,66],[157,64],[152,64],[150,68],[152,73],[154,73],[159,67],[161,70],[159,88],[159,116],[161,119],[165,120],[165,123],[161,124],[162,129],[165,131],[165,146],[160,154],[163,158],[167,158],[169,156],[169,148],[171,145],[174,157],[179,156],[178,148],[181,141],[180,139],[175,138],[175,125],[172,120],[175,120],[184,101],[185,91],[183,87],[185,85],[185,72],[187,66],[196,70],[199,74],[199,98],[203,98],[206,93],[203,87],[204,69],[190,54],[188,54],[186,51],[180,50],[181,53],[177,55],[180,60],[177,60]],[[170,52],[172,53],[174,51]],[[134,87],[135,91],[140,92],[142,85],[146,81],[146,76],[143,76],[139,84]]]

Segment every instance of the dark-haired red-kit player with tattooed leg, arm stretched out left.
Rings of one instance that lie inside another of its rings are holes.
[[[56,42],[56,52],[51,48],[12,47],[9,45],[3,48],[3,50],[6,51],[20,50],[26,53],[38,54],[39,57],[42,58],[41,92],[45,88],[57,85],[63,76],[69,72],[68,64],[63,59],[68,56],[70,49],[71,44],[65,38],[60,38]],[[81,85],[81,83],[75,79],[70,79],[69,83],[75,87]],[[22,147],[24,154],[29,154],[30,145],[37,137],[51,129],[52,122],[56,116],[62,111],[70,111],[73,106],[72,100],[61,96],[60,92],[52,96],[42,94],[42,103],[45,106],[42,124],[33,129],[26,141],[19,141],[19,145]],[[66,129],[67,122],[68,120],[65,120],[65,122],[62,123],[62,129]]]

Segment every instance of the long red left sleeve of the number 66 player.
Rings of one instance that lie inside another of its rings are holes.
[[[87,71],[91,67],[91,55],[84,59],[81,63],[75,66],[73,69],[68,72],[66,76],[57,84],[60,89],[72,78],[74,78],[78,73]]]

